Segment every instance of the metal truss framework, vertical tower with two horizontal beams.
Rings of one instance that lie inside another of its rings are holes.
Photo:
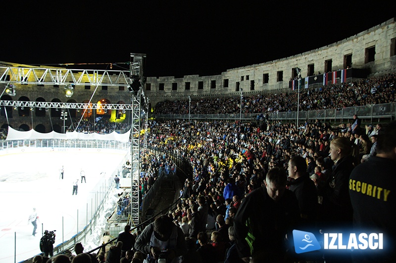
[[[140,223],[140,128],[141,102],[146,103],[144,95],[143,64],[146,54],[131,53],[130,71],[115,70],[77,70],[62,68],[0,67],[0,83],[33,85],[92,85],[124,86],[131,88],[139,84],[139,91],[131,92],[132,104],[63,103],[37,101],[0,100],[0,106],[30,108],[69,108],[69,109],[115,109],[131,110],[131,203],[130,224]],[[138,83],[137,83],[138,82]],[[132,91],[132,88],[131,90]]]

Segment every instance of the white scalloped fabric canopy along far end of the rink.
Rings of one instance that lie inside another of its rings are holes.
[[[20,132],[8,126],[8,134],[6,140],[36,140],[36,139],[80,139],[80,140],[116,140],[120,142],[128,142],[130,131],[125,133],[117,133],[115,131],[108,134],[99,133],[83,133],[83,132],[49,132],[41,133],[35,130]]]

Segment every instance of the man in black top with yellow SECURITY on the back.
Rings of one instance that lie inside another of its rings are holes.
[[[352,254],[355,262],[395,261],[395,171],[396,122],[393,122],[378,135],[377,155],[356,166],[349,176],[354,230],[384,235],[383,249],[370,253],[355,251]]]

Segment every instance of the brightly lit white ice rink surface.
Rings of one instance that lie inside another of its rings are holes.
[[[56,230],[54,247],[62,243],[62,236],[66,241],[81,231],[104,196],[104,188],[108,187],[105,178],[113,176],[126,154],[123,150],[105,149],[1,150],[0,262],[13,263],[15,248],[16,262],[39,254],[42,230]],[[59,176],[62,165],[63,180]],[[81,169],[86,183],[81,183]],[[72,195],[76,179],[78,194]],[[28,221],[33,208],[39,216],[36,236]]]

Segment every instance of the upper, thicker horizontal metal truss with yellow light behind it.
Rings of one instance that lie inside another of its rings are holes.
[[[136,67],[136,66],[135,66]],[[132,66],[131,66],[132,68]],[[0,67],[0,83],[128,87],[129,71]]]

